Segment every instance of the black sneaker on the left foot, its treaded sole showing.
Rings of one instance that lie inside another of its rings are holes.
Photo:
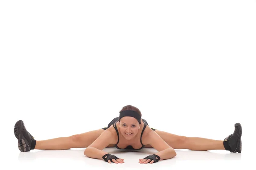
[[[34,137],[26,130],[22,120],[16,122],[14,126],[14,134],[18,139],[18,147],[20,152],[28,152],[31,150],[31,143]]]

